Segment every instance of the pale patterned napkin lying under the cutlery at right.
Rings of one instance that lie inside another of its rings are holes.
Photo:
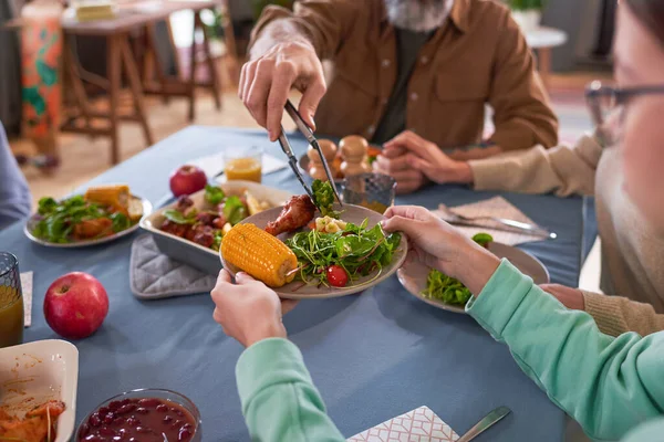
[[[530,218],[528,218],[523,212],[521,212],[515,206],[509,203],[509,201],[507,201],[502,197],[494,197],[488,200],[474,202],[471,204],[457,206],[455,208],[447,208],[445,204],[440,204],[438,210],[434,210],[433,212],[436,215],[438,215],[442,219],[447,221],[447,220],[452,219],[449,211],[452,211],[453,213],[458,213],[460,215],[469,217],[469,218],[497,217],[497,218],[505,218],[508,220],[513,220],[513,221],[519,221],[519,222],[525,222],[528,224],[536,225],[536,223]],[[508,245],[522,244],[525,242],[532,242],[532,241],[542,241],[542,240],[547,239],[547,236],[542,235],[542,234],[530,234],[530,233],[521,232],[519,230],[513,230],[513,231],[508,232],[505,230],[492,229],[492,227],[501,225],[501,224],[498,224],[495,221],[490,221],[490,220],[479,220],[479,221],[474,221],[473,223],[481,224],[483,227],[466,227],[466,225],[455,225],[455,227],[458,228],[464,233],[466,233],[468,236],[473,236],[479,232],[489,233],[491,236],[494,236],[494,240],[496,242],[501,242],[501,243],[508,244]],[[506,229],[509,229],[509,228],[506,228]]]

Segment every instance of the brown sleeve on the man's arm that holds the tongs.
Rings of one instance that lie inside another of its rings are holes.
[[[356,17],[357,3],[354,0],[301,0],[295,2],[292,12],[286,8],[269,6],[263,9],[251,32],[251,42],[256,42],[270,23],[288,20],[304,33],[321,60],[331,59]]]

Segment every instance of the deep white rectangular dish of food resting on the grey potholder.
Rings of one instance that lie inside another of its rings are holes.
[[[217,274],[221,270],[219,244],[228,231],[264,210],[279,207],[292,193],[252,181],[227,181],[156,210],[141,222],[167,256]]]

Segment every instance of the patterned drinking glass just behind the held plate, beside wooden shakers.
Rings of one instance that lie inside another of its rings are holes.
[[[385,213],[394,204],[396,180],[382,173],[360,173],[343,180],[343,202]]]

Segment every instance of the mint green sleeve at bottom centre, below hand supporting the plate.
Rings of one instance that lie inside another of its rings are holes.
[[[236,378],[252,441],[344,441],[325,412],[302,354],[288,339],[264,339],[247,348]]]

